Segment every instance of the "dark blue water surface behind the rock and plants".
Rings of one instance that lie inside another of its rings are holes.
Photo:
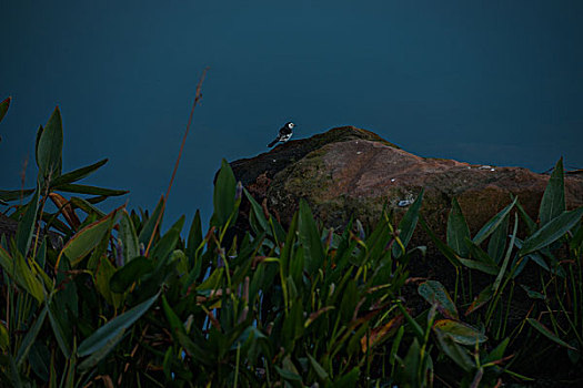
[[[27,160],[33,184],[59,105],[64,170],[109,157],[86,182],[152,208],[207,65],[170,219],[208,218],[221,157],[264,152],[290,120],[294,139],[355,125],[423,156],[583,167],[582,20],[582,1],[4,0],[0,188]]]

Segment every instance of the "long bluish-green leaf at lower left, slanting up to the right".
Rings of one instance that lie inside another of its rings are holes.
[[[103,349],[111,350],[115,343],[110,343],[110,340],[120,336],[134,321],[140,319],[152,307],[159,296],[160,293],[101,326],[79,345],[77,349],[78,356],[84,357]]]

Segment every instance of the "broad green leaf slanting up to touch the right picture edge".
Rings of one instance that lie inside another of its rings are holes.
[[[551,219],[536,233],[526,238],[519,251],[521,256],[525,256],[534,251],[544,248],[561,238],[567,231],[579,223],[583,215],[583,207],[571,212],[563,212]]]

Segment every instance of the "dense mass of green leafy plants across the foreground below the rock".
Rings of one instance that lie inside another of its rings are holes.
[[[151,215],[99,211],[124,192],[76,182],[104,161],[61,173],[58,110],[36,155],[37,187],[0,192],[31,195],[0,247],[0,385],[494,387],[529,380],[534,356],[581,368],[583,208],[565,211],[562,161],[540,223],[513,198],[472,237],[453,200],[445,243],[421,216],[422,194],[396,228],[383,212],[370,234],[358,221],[336,233],[301,201],[285,229],[225,161],[208,231],[197,212],[183,239],[184,217],[155,232],[162,200]],[[242,201],[249,231],[234,236]],[[409,247],[418,222],[455,270],[450,290],[410,277],[424,252]],[[534,284],[520,276],[529,270]],[[511,319],[520,292],[529,308]]]

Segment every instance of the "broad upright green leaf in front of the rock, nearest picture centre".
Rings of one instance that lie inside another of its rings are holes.
[[[314,216],[304,200],[300,200],[299,238],[304,247],[305,270],[314,275],[324,262],[324,249]]]

